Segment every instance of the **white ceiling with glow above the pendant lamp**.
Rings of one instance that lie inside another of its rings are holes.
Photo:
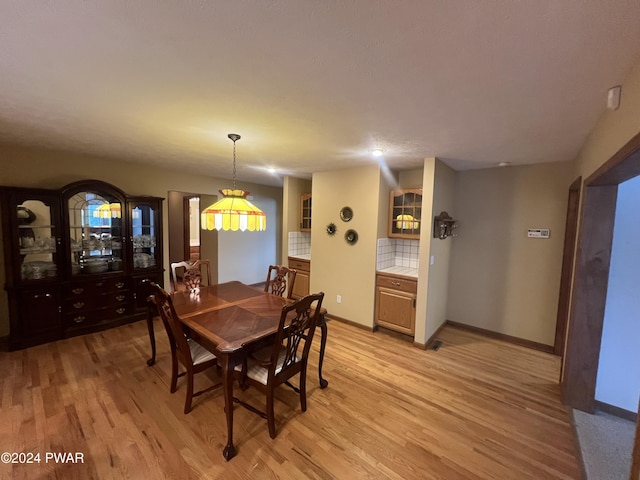
[[[0,0],[0,141],[230,178],[234,132],[240,184],[568,161],[638,60],[638,0]]]

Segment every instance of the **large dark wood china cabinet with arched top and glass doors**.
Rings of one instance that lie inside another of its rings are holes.
[[[162,198],[99,180],[0,192],[11,349],[145,318],[163,280]]]

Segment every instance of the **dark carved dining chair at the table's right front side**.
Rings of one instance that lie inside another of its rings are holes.
[[[235,374],[243,390],[252,386],[266,396],[266,412],[237,398],[234,401],[267,420],[269,436],[276,437],[273,401],[276,387],[286,384],[300,395],[300,408],[307,411],[307,360],[311,350],[324,293],[307,295],[282,308],[275,342],[249,355]],[[299,376],[298,387],[289,380]]]

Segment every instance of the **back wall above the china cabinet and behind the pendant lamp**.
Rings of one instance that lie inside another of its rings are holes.
[[[229,186],[229,180],[169,171],[136,163],[88,155],[54,152],[0,144],[0,185],[60,188],[87,178],[109,182],[129,195],[167,198],[171,190],[215,194]],[[282,189],[265,185],[243,184],[253,195],[253,203],[267,214],[265,232],[220,232],[220,281],[233,279],[247,283],[264,281],[266,268],[275,262],[282,231]],[[165,202],[166,203],[166,202]],[[165,281],[168,285],[168,208],[164,208]],[[5,284],[4,252],[0,252],[0,285]],[[0,336],[8,334],[6,294],[0,292]]]

